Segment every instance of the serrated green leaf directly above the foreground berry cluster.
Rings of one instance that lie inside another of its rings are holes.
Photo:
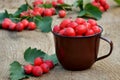
[[[37,58],[37,57],[44,57],[45,56],[45,53],[41,50],[37,50],[36,48],[31,48],[29,47],[25,52],[24,52],[24,59],[33,64],[34,62],[34,59]]]

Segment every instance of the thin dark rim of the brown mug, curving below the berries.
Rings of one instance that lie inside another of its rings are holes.
[[[90,35],[90,36],[63,36],[63,35],[53,32],[53,30],[52,30],[52,33],[56,36],[63,37],[63,38],[90,38],[90,37],[97,36],[103,32],[103,28],[100,25],[98,25],[98,26],[101,28],[101,32],[94,34],[94,35]]]

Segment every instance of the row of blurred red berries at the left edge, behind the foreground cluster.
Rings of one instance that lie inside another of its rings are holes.
[[[34,30],[36,29],[36,24],[34,22],[29,22],[26,19],[23,19],[18,23],[14,23],[9,18],[5,18],[2,21],[2,28],[12,30],[12,31],[22,31],[24,29]]]

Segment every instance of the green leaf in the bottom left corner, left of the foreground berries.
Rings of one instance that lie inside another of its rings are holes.
[[[24,69],[21,64],[17,61],[14,61],[10,64],[10,79],[11,80],[20,80],[27,78],[28,76],[24,74]]]

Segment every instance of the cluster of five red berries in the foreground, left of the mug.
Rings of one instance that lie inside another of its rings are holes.
[[[43,60],[40,57],[35,58],[34,65],[28,64],[24,66],[26,74],[32,74],[33,76],[39,77],[43,73],[48,73],[50,69],[54,67],[51,60]]]

